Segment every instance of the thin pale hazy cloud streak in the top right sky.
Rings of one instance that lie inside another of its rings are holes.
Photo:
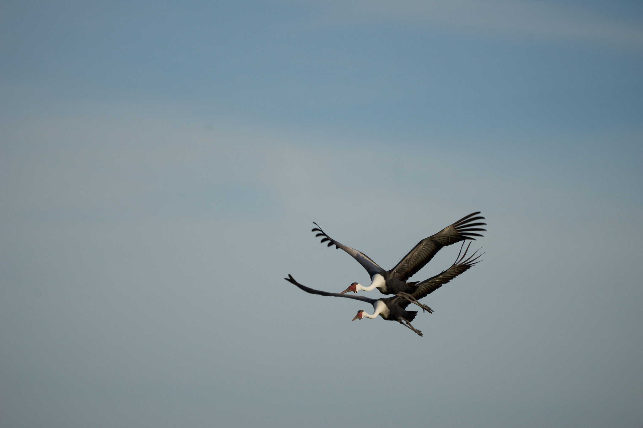
[[[300,3],[300,2],[298,2]],[[582,3],[516,0],[349,0],[307,1],[346,25],[406,22],[424,28],[451,28],[487,35],[588,40],[640,48],[643,28],[592,11]]]

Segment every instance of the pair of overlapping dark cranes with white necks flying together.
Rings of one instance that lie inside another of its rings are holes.
[[[284,279],[307,293],[321,296],[347,297],[361,300],[362,302],[368,302],[373,305],[374,312],[372,314],[360,310],[355,318],[352,319],[353,321],[362,320],[363,318],[377,318],[379,315],[385,320],[397,321],[401,325],[404,325],[404,327],[408,327],[408,329],[411,329],[419,334],[419,336],[422,336],[422,332],[411,325],[411,321],[413,321],[415,315],[417,315],[417,311],[407,311],[406,307],[410,304],[415,304],[422,308],[422,312],[428,311],[429,313],[432,313],[433,311],[431,308],[427,305],[421,304],[419,300],[430,293],[433,293],[433,291],[439,289],[443,284],[446,284],[453,278],[460,275],[460,273],[468,270],[474,264],[480,262],[478,258],[480,258],[482,254],[475,257],[477,253],[476,251],[467,257],[467,252],[471,243],[467,245],[467,248],[464,249],[463,253],[462,250],[465,242],[462,242],[462,247],[460,247],[460,252],[458,252],[456,261],[447,270],[442,271],[439,275],[435,275],[435,277],[428,278],[421,282],[407,282],[407,280],[417,273],[417,271],[421,270],[425,264],[430,262],[431,259],[433,259],[433,256],[439,252],[442,247],[455,244],[460,241],[475,241],[474,236],[482,236],[475,232],[486,231],[486,229],[479,228],[478,226],[484,226],[487,223],[474,223],[475,221],[484,219],[484,217],[478,216],[478,214],[480,214],[480,211],[473,212],[440,230],[437,234],[422,239],[422,241],[417,243],[417,245],[414,246],[413,249],[405,255],[392,270],[388,271],[382,269],[366,254],[344,244],[338,243],[338,241],[335,241],[321,230],[317,223],[313,222],[316,227],[312,229],[312,232],[318,232],[315,236],[321,236],[322,243],[329,241],[329,247],[334,245],[335,248],[341,248],[352,255],[352,257],[356,259],[356,261],[358,261],[365,270],[367,270],[368,276],[371,279],[370,286],[365,287],[358,282],[353,282],[341,293],[329,293],[327,291],[320,291],[303,286],[299,282],[296,282],[290,274],[288,274],[288,278]],[[346,294],[350,291],[357,293],[358,291],[371,291],[376,288],[384,295],[393,296],[373,299],[366,296]]]

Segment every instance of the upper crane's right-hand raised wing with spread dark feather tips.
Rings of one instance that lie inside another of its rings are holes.
[[[408,278],[415,275],[415,273],[427,264],[433,256],[440,251],[440,248],[443,246],[448,246],[455,244],[465,239],[472,239],[475,241],[475,238],[472,236],[482,236],[474,232],[478,232],[481,229],[476,226],[483,226],[487,223],[471,223],[471,221],[484,220],[484,217],[473,217],[476,214],[480,214],[480,211],[473,212],[466,217],[463,217],[453,223],[453,225],[447,226],[444,229],[440,230],[435,235],[432,235],[428,238],[422,239],[416,246],[413,247],[407,255],[389,272],[392,273],[393,277],[397,277],[402,281],[408,280]]]

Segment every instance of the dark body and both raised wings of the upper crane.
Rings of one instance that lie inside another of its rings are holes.
[[[335,248],[341,248],[354,257],[354,259],[356,259],[356,261],[358,261],[359,264],[367,270],[372,281],[377,280],[377,274],[381,275],[384,283],[381,285],[379,285],[379,282],[377,283],[377,289],[379,289],[381,293],[385,295],[397,295],[404,292],[414,293],[417,290],[417,286],[419,285],[417,282],[406,282],[406,280],[415,275],[417,271],[421,270],[424,265],[430,262],[431,259],[433,259],[433,256],[435,256],[442,247],[455,244],[466,239],[475,241],[474,236],[482,236],[475,232],[485,231],[486,229],[478,228],[477,226],[483,226],[487,223],[472,223],[473,221],[484,219],[482,216],[475,217],[477,214],[480,214],[480,211],[473,212],[468,216],[459,219],[452,225],[440,230],[437,234],[422,239],[422,241],[417,243],[417,245],[415,245],[392,270],[388,271],[381,268],[366,254],[341,244],[329,237],[329,235],[321,230],[317,223],[313,222],[317,227],[313,228],[312,232],[319,232],[315,235],[317,237],[323,236],[321,239],[322,243],[329,241],[328,246],[334,245]]]

